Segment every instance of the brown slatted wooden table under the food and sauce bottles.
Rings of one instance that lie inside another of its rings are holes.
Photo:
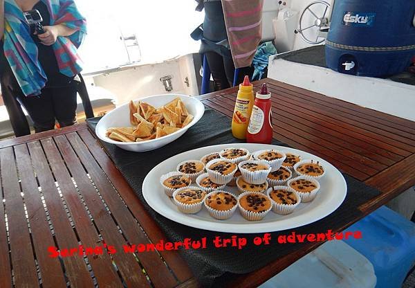
[[[263,82],[273,93],[277,140],[382,191],[360,207],[365,215],[414,186],[414,122],[275,80],[255,82],[255,88]],[[236,92],[199,99],[231,117]],[[0,172],[0,287],[197,286],[174,251],[48,257],[50,246],[102,246],[104,239],[121,247],[165,239],[85,124],[0,142]],[[318,245],[309,243],[229,286],[255,287]]]

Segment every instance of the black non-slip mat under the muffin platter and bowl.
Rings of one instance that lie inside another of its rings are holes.
[[[88,121],[92,129],[95,128],[97,122],[98,119]],[[121,150],[115,145],[109,145],[107,143],[102,143],[102,145],[104,145],[117,168],[170,241],[182,241],[185,238],[199,240],[202,237],[207,237],[208,244],[210,244],[216,236],[231,237],[235,234],[205,231],[172,222],[156,213],[147,205],[145,199],[142,197],[141,187],[142,181],[145,179],[147,173],[165,159],[198,147],[225,143],[240,143],[240,141],[232,137],[230,132],[230,118],[213,109],[206,108],[205,115],[199,123],[194,125],[194,127],[189,129],[189,131],[181,136],[181,138],[178,138],[177,141],[174,141],[174,143],[170,143],[158,150],[134,153]],[[284,145],[284,143],[278,141],[274,141],[273,144]],[[212,285],[216,286],[217,283],[215,283],[215,280],[223,275],[227,278],[229,275],[232,275],[230,273],[249,273],[264,267],[269,262],[275,261],[288,253],[302,249],[304,244],[277,244],[276,240],[278,235],[288,235],[293,231],[300,234],[326,233],[329,229],[335,230],[336,228],[340,228],[361,215],[360,210],[356,207],[380,193],[353,177],[345,174],[344,177],[347,181],[348,193],[342,206],[318,222],[290,231],[272,233],[270,245],[255,246],[255,244],[252,244],[253,238],[263,235],[263,233],[239,234],[237,235],[238,237],[245,237],[248,242],[247,246],[241,250],[237,248],[215,249],[210,244],[207,249],[181,250],[183,257],[190,264],[190,268],[201,285],[203,287],[211,287]],[[223,281],[223,278],[221,277],[220,280]]]

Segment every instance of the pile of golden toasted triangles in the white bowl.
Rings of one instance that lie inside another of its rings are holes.
[[[181,98],[156,108],[146,102],[129,102],[129,117],[133,127],[107,129],[107,136],[120,142],[142,142],[167,136],[193,120]]]

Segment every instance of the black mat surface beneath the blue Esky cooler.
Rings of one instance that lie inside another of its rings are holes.
[[[284,59],[290,62],[302,63],[324,68],[327,67],[324,45],[315,45],[304,49],[283,53],[281,55],[278,55],[277,58]],[[415,85],[415,73],[410,73],[407,71],[396,75],[392,75],[387,79],[392,80],[394,82]]]

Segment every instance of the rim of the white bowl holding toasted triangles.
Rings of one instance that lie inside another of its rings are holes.
[[[187,95],[184,95],[184,94],[159,94],[159,95],[147,96],[145,98],[140,98],[140,99],[136,99],[136,100],[133,100],[133,101],[134,102],[145,101],[149,98],[156,98],[156,97],[161,97],[161,96],[172,96],[172,95],[174,95],[176,97],[180,97],[180,98],[185,97],[185,98],[192,98],[193,100],[197,100],[194,97],[187,96]],[[197,100],[197,101],[199,101],[199,100]],[[167,104],[167,102],[165,104]],[[123,146],[123,145],[137,145],[137,146],[139,146],[139,145],[145,145],[147,143],[155,143],[155,142],[158,142],[158,141],[162,141],[162,140],[164,141],[165,140],[165,138],[162,137],[162,138],[156,138],[156,139],[151,139],[151,140],[142,141],[142,142],[118,142],[118,141],[112,140],[111,138],[109,138],[107,136],[103,136],[102,134],[98,133],[98,129],[99,129],[98,127],[100,125],[100,121],[103,121],[105,118],[110,118],[111,114],[115,113],[115,111],[117,109],[120,109],[121,107],[124,107],[124,106],[127,106],[127,105],[129,105],[129,103],[125,103],[125,104],[121,105],[120,107],[117,107],[116,109],[113,109],[112,111],[109,111],[108,114],[105,114],[98,121],[97,125],[95,126],[95,134],[98,136],[98,138],[100,138],[104,142],[111,143],[111,144],[114,144],[114,145],[121,145],[121,146]],[[203,103],[202,103],[202,105],[203,105]],[[189,129],[190,127],[192,127],[193,125],[198,123],[199,120],[201,120],[201,118],[203,117],[203,114],[204,114],[204,110],[203,110],[203,113],[201,113],[200,115],[194,115],[194,118],[193,118],[192,122],[190,122],[186,127],[182,128],[180,130],[177,130],[176,132],[174,132],[172,134],[169,134],[165,137],[174,136],[178,133],[181,133],[181,132],[183,132],[183,129],[185,129],[185,131],[187,131],[187,129]],[[129,115],[127,115],[127,116],[129,117]]]

